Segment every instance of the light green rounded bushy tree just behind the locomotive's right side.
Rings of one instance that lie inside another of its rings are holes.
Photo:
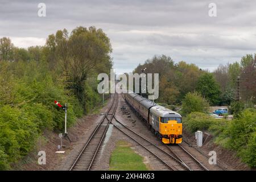
[[[205,113],[209,110],[209,102],[200,93],[189,92],[182,101],[181,113],[185,116],[193,112]]]

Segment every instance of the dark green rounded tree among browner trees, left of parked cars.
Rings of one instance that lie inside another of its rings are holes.
[[[220,103],[220,86],[211,73],[203,73],[199,77],[196,90],[209,100],[210,105],[218,105]]]

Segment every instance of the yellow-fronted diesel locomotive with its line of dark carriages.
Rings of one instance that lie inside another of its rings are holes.
[[[123,97],[163,143],[182,142],[182,122],[179,113],[133,92],[125,93]]]

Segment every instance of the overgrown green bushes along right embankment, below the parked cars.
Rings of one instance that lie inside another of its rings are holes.
[[[191,133],[208,131],[214,143],[237,153],[242,162],[256,167],[256,110],[246,109],[233,120],[215,119],[204,113],[191,113],[183,119],[184,129]]]

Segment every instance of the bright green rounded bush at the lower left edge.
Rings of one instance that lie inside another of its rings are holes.
[[[30,113],[9,105],[1,107],[0,147],[7,159],[0,163],[15,162],[20,156],[26,155],[38,137],[36,131],[36,123],[30,118]],[[9,166],[9,163],[4,166]]]

